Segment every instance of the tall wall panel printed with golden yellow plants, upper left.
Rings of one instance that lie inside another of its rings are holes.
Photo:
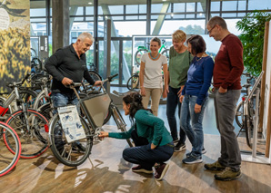
[[[6,82],[30,72],[30,0],[1,2],[0,44],[0,92],[6,92]]]

